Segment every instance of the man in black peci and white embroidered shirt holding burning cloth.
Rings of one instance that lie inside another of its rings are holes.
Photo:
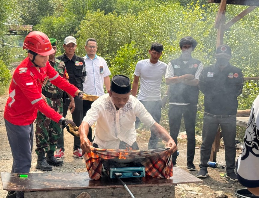
[[[83,151],[91,152],[92,143],[87,134],[89,127],[96,121],[94,147],[126,149],[126,146],[131,146],[132,149],[139,149],[136,143],[136,116],[167,142],[166,146],[171,147],[170,152],[176,151],[175,142],[166,129],[156,123],[144,105],[130,93],[130,79],[124,75],[113,76],[110,90],[93,102],[79,127]]]

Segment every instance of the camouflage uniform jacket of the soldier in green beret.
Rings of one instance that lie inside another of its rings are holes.
[[[66,66],[63,61],[60,61],[55,58],[54,69],[59,73],[60,76],[64,77],[65,79],[69,79],[69,76],[66,72]],[[65,73],[65,75],[64,75],[64,73]],[[47,84],[42,88],[42,90],[47,91],[49,93],[56,93],[56,94],[63,92],[62,89],[60,89],[59,87],[56,87],[50,81],[47,81]],[[46,97],[46,99],[47,99],[47,103],[50,107],[62,107],[63,106],[62,98],[56,99],[56,98]]]

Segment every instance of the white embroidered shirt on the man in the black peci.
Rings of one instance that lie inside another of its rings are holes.
[[[95,139],[101,149],[118,149],[120,141],[130,146],[136,141],[136,116],[148,127],[155,121],[145,109],[144,105],[134,96],[123,108],[116,110],[109,94],[104,94],[93,102],[83,121],[92,126],[96,121]]]

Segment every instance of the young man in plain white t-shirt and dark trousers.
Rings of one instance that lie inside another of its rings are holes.
[[[148,51],[150,58],[141,60],[136,65],[132,85],[132,95],[136,97],[140,79],[138,99],[157,123],[161,119],[161,82],[167,67],[165,63],[159,61],[162,51],[162,44],[152,43]],[[154,134],[154,131],[151,130],[148,149],[158,148],[158,141],[159,139]]]

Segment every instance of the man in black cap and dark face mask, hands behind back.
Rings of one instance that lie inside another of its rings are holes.
[[[226,177],[237,181],[236,159],[236,113],[237,96],[242,93],[243,74],[241,69],[229,64],[231,49],[221,45],[216,50],[216,63],[205,67],[199,77],[199,87],[204,93],[203,142],[200,149],[201,163],[197,177],[206,178],[207,164],[211,154],[212,143],[220,125],[226,159]]]

